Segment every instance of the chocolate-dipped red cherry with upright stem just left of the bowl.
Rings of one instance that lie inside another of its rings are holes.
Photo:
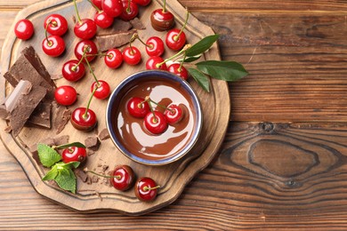
[[[92,131],[98,121],[92,109],[76,108],[71,113],[70,122],[79,131]]]

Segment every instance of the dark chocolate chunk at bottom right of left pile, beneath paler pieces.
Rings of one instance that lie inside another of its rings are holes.
[[[38,104],[34,112],[28,118],[26,125],[38,126],[40,128],[51,128],[51,111],[52,104],[41,102]]]

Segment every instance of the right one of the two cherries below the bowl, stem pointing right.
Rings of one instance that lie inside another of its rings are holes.
[[[157,197],[157,188],[159,187],[160,186],[157,186],[156,181],[144,177],[136,181],[134,191],[139,200],[149,202],[153,201]]]

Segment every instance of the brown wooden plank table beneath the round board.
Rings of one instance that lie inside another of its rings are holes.
[[[20,9],[0,2],[0,47]],[[221,34],[230,84],[217,158],[169,206],[141,217],[81,214],[36,193],[0,147],[0,229],[346,229],[347,3],[181,0]]]

